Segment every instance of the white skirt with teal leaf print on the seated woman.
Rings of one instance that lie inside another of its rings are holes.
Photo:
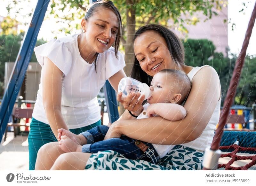
[[[176,145],[157,164],[126,159],[116,151],[92,154],[85,170],[201,170],[204,151]]]

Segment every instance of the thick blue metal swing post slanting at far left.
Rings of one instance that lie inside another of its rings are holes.
[[[12,75],[8,83],[7,89],[5,90],[3,102],[0,107],[0,142],[3,138],[7,122],[10,115],[12,114],[12,109],[16,97],[20,91],[20,87],[24,80],[28,63],[33,53],[37,35],[44,20],[44,15],[49,2],[50,0],[38,0],[36,4],[36,9],[34,11],[28,28],[28,32],[24,36],[23,44],[20,47],[20,51],[16,58],[15,65],[12,70]]]

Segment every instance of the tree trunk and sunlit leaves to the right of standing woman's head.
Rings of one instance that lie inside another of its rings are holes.
[[[134,61],[133,37],[135,30],[146,24],[161,24],[170,28],[177,28],[181,32],[187,33],[185,25],[195,25],[199,19],[196,12],[203,12],[207,19],[212,18],[212,7],[221,9],[219,1],[161,1],[161,0],[123,0],[118,1],[118,8],[123,12],[125,35],[122,41],[125,45],[125,72],[129,74]],[[123,9],[125,11],[123,11]],[[125,14],[124,14],[125,12]],[[189,15],[184,18],[182,15]],[[193,18],[193,19],[191,19]],[[171,21],[171,24],[168,22]]]

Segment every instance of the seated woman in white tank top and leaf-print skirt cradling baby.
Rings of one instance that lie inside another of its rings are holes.
[[[165,119],[160,113],[171,114],[173,107],[170,103],[161,103],[158,109],[150,111],[157,116],[134,120],[142,112],[144,96],[138,100],[139,94],[130,94],[122,100],[122,95],[118,93],[117,100],[127,110],[110,126],[104,140],[128,136],[146,143],[174,145],[174,147],[153,164],[140,159],[126,159],[122,154],[111,150],[94,154],[81,151],[65,153],[59,146],[60,142],[52,142],[45,144],[38,151],[36,170],[199,170],[202,168],[204,150],[212,143],[214,129],[219,121],[221,94],[218,74],[210,66],[186,66],[184,48],[180,39],[160,25],[146,25],[136,32],[134,54],[131,77],[149,86],[152,77],[164,69],[179,70],[187,74],[192,86],[183,104],[187,112],[186,116],[176,121]]]

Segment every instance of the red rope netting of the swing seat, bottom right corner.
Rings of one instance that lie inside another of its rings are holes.
[[[256,151],[256,148],[240,147],[237,144],[233,144],[231,146],[221,146],[220,147],[220,150],[224,150],[224,149],[234,149],[234,151],[227,153],[227,154],[221,154],[220,158],[229,157],[232,159],[228,163],[219,164],[218,168],[224,167],[225,170],[248,170],[248,168],[250,168],[256,164],[256,155],[253,155],[253,156],[238,156],[238,155],[236,155],[236,153],[238,151]],[[242,167],[232,167],[231,166],[235,161],[244,160],[244,159],[250,159],[252,161]]]

